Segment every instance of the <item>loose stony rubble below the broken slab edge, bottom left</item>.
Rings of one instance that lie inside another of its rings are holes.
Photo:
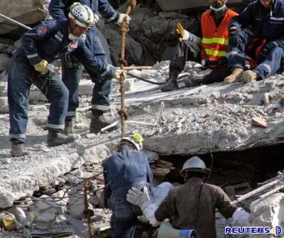
[[[104,185],[102,173],[98,173],[101,169],[99,164],[82,166],[49,186],[41,186],[33,196],[16,200],[15,206],[0,212],[1,237],[65,237],[75,233],[86,236],[88,231],[82,228],[87,226],[83,183],[86,178],[92,178],[87,205],[93,227],[99,231],[100,227],[109,226],[111,212],[104,209]]]

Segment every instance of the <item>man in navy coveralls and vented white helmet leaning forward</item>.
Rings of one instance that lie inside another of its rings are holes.
[[[97,19],[88,6],[80,4],[70,11],[70,19],[43,21],[22,36],[22,44],[13,54],[8,77],[11,157],[28,154],[23,150],[23,143],[26,139],[28,100],[32,84],[37,86],[50,102],[48,146],[75,140],[74,136],[66,137],[60,134],[64,129],[69,93],[62,81],[51,77],[48,67],[50,62],[84,45],[80,36],[94,26]],[[81,52],[83,55],[87,54],[84,48]]]

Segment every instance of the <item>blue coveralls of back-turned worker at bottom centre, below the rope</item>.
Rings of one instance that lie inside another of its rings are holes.
[[[148,183],[152,181],[153,174],[147,155],[124,145],[105,160],[103,167],[105,183],[110,181],[105,194],[113,212],[111,227],[114,230],[114,238],[132,238],[136,218],[142,215],[142,212],[138,206],[126,201],[126,194],[133,186],[150,188]]]

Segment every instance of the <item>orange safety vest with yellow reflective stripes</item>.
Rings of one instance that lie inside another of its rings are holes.
[[[220,60],[226,52],[228,52],[228,25],[231,18],[238,16],[238,13],[228,9],[225,16],[217,28],[214,17],[210,15],[212,10],[208,10],[202,14],[202,42],[201,42],[201,58],[209,61],[209,67],[214,68],[218,60]]]

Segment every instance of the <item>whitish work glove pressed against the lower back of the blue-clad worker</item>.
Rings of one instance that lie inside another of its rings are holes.
[[[143,192],[139,189],[132,187],[126,195],[126,200],[133,205],[138,205],[142,212],[148,205],[151,205],[148,189],[146,186],[143,187]]]

